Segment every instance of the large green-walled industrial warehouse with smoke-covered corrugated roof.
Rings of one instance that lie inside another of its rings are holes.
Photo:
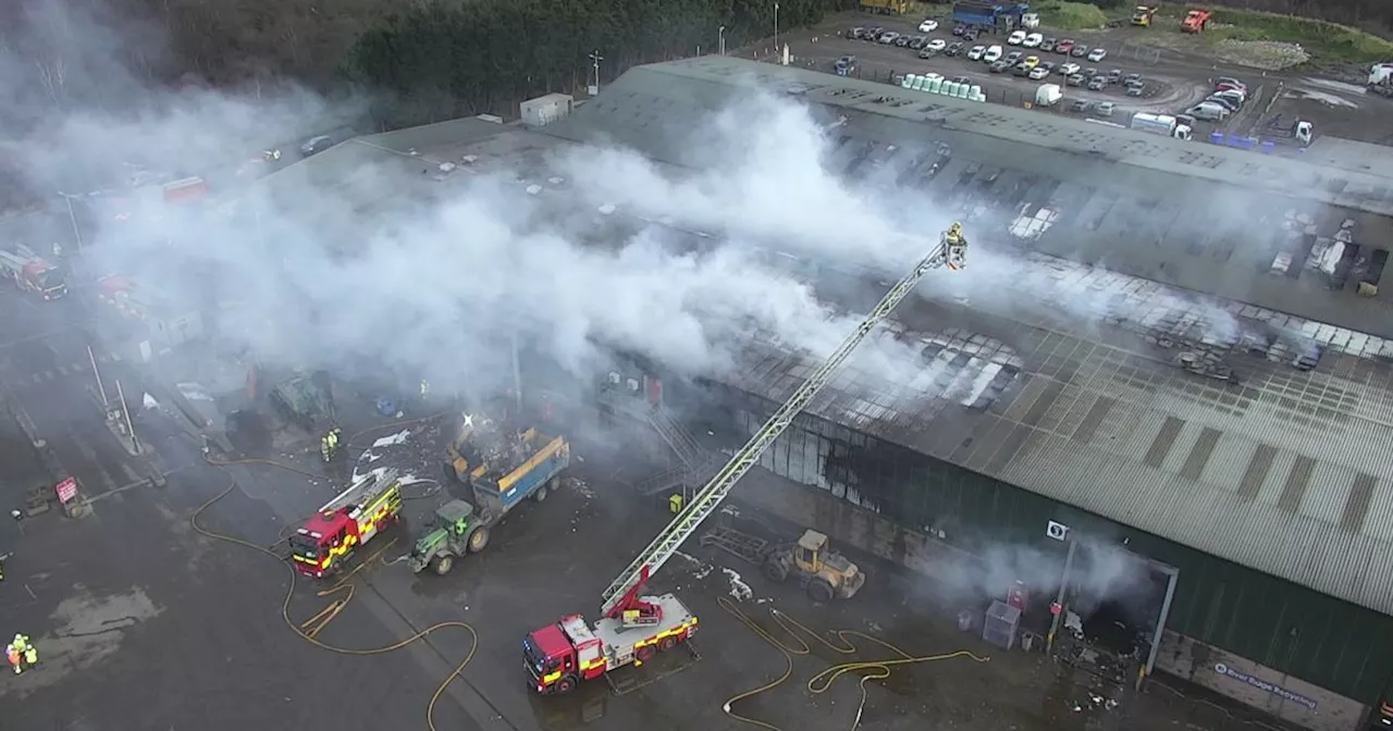
[[[893,170],[1022,266],[995,274],[1015,298],[907,301],[893,329],[921,347],[922,375],[847,369],[763,458],[801,487],[740,496],[929,576],[992,546],[1052,556],[1064,592],[1021,603],[1060,636],[1074,608],[1085,625],[1107,608],[1087,576],[1099,546],[1124,547],[1152,579],[1126,592],[1139,611],[1107,615],[1139,638],[1130,673],[1322,731],[1376,724],[1393,681],[1393,182],[1375,174],[1393,166],[1379,148],[1321,139],[1294,162],[706,57],[631,70],[539,128],[375,135],[266,184],[382,205],[355,194],[379,178],[354,173],[383,159],[430,173],[412,191],[428,195],[457,164],[536,175],[549,145],[586,141],[695,166],[684,129],[749,85],[833,110],[834,167]],[[614,386],[662,394],[712,433],[703,448],[734,448],[815,363],[752,344],[741,366],[699,397],[660,365]]]

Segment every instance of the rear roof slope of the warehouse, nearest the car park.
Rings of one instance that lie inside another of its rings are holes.
[[[1393,337],[1386,148],[1318,139],[1300,160],[1265,156],[729,57],[634,68],[547,131],[699,166],[684,131],[754,86],[844,117],[834,132],[843,146],[950,145],[953,168],[940,181],[967,175],[972,196],[1059,212],[1031,237],[1034,251]],[[961,196],[953,184],[935,192]],[[1006,226],[974,221],[978,239],[1010,241]]]

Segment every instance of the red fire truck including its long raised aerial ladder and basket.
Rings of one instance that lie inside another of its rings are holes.
[[[605,589],[602,618],[593,628],[579,614],[570,614],[522,639],[522,666],[532,675],[534,688],[539,693],[567,693],[581,681],[599,678],[630,664],[641,666],[657,652],[670,650],[696,632],[696,615],[676,595],[641,596],[648,578],[720,507],[740,478],[759,462],[765,450],[812,402],[857,345],[908,297],[929,270],[964,269],[967,248],[963,224],[954,223],[940,234],[933,251],[885,294],[841,345]]]

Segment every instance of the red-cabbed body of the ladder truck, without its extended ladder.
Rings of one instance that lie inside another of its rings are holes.
[[[584,617],[571,614],[528,635],[522,657],[536,691],[568,693],[579,681],[628,664],[642,666],[653,654],[687,642],[696,632],[696,617],[674,595],[639,597],[646,583],[645,568],[641,581],[593,629]]]

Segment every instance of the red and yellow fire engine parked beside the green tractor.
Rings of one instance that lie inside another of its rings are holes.
[[[372,471],[338,494],[290,536],[290,554],[313,578],[343,569],[352,553],[401,519],[401,480],[396,469]]]

